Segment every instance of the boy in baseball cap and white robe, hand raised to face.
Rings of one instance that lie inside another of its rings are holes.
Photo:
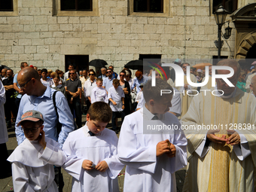
[[[18,126],[26,139],[8,157],[12,163],[14,191],[58,191],[53,165],[62,166],[66,155],[59,143],[45,137],[44,119],[39,111],[26,111]]]

